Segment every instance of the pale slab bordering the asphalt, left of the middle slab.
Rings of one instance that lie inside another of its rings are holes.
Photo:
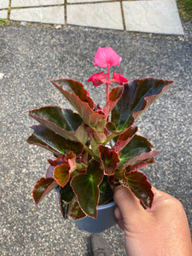
[[[64,6],[12,9],[10,20],[64,24]]]

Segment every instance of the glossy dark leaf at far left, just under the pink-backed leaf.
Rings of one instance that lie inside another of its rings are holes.
[[[82,143],[67,140],[44,127],[44,125],[33,125],[31,128],[34,132],[27,139],[27,143],[48,149],[56,155],[66,154],[69,151],[73,151],[74,154],[80,154],[83,151],[84,146]]]

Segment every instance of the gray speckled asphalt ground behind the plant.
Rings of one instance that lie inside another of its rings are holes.
[[[44,176],[49,152],[29,146],[26,138],[35,121],[27,110],[46,105],[68,106],[49,79],[78,79],[95,102],[104,101],[104,86],[86,80],[102,69],[94,67],[96,49],[111,46],[123,61],[115,70],[127,79],[156,77],[175,84],[137,121],[139,131],[162,150],[143,169],[158,189],[183,203],[192,229],[191,172],[191,23],[184,37],[54,26],[0,27],[0,172],[1,255],[86,255],[88,233],[64,221],[56,193],[38,207],[32,186]],[[154,227],[155,229],[155,227]],[[114,255],[125,255],[124,234],[117,226],[103,232]]]

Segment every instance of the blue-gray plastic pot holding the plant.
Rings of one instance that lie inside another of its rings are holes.
[[[110,202],[106,205],[97,207],[97,218],[88,216],[75,220],[75,224],[80,230],[85,230],[90,233],[101,233],[108,230],[113,225],[117,224],[117,219],[114,217],[115,202]]]

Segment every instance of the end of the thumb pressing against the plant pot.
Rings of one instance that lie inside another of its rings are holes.
[[[114,191],[113,200],[118,205],[124,220],[133,220],[134,218],[141,216],[141,213],[145,212],[140,201],[127,187],[118,187]]]

